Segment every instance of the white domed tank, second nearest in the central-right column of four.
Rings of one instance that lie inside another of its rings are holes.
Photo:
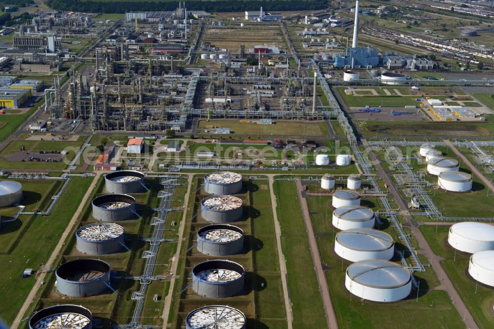
[[[336,234],[334,251],[351,262],[367,259],[390,260],[395,243],[389,234],[369,228],[350,229]]]

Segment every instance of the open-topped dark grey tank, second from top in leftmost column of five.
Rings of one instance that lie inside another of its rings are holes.
[[[126,194],[104,194],[91,204],[94,219],[104,222],[127,220],[135,215],[135,199]]]

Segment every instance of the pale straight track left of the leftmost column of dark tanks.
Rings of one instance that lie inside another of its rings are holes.
[[[46,264],[44,264],[44,268],[51,268],[53,266],[53,263],[55,262],[55,260],[57,260],[59,253],[60,253],[60,250],[62,249],[66,240],[71,237],[72,229],[79,222],[79,215],[82,212],[82,208],[86,204],[87,198],[89,198],[89,195],[91,194],[94,187],[96,186],[96,183],[97,183],[100,176],[101,176],[101,173],[97,173],[96,176],[94,176],[91,185],[89,186],[89,188],[86,191],[86,194],[84,194],[84,197],[81,200],[81,204],[79,205],[76,212],[74,213],[74,216],[72,216],[72,219],[70,220],[69,224],[67,225],[67,228],[65,229],[62,236],[60,237],[60,240],[58,241],[57,246],[55,247],[55,249],[51,253],[50,258],[48,258],[48,261],[46,262]],[[22,307],[21,307],[19,313],[17,313],[17,316],[16,316],[14,322],[12,323],[12,326],[10,327],[11,329],[19,328],[24,314],[27,312],[28,308],[31,306],[31,303],[33,302],[34,298],[36,297],[36,293],[38,292],[38,290],[41,287],[41,282],[44,281],[45,277],[46,277],[46,272],[43,272],[36,279],[36,283],[35,283],[34,287],[31,289],[31,291],[29,292],[26,300],[24,301],[24,304],[22,304]]]

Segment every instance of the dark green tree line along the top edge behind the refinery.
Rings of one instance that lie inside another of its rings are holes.
[[[125,13],[130,11],[173,11],[173,1],[108,1],[108,0],[48,0],[48,6],[64,11],[95,13]],[[263,9],[273,11],[319,10],[328,6],[327,0],[188,0],[188,10],[231,12]]]

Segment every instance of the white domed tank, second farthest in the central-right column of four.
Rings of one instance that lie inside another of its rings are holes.
[[[365,206],[342,206],[333,211],[333,226],[339,230],[357,228],[372,228],[375,224],[375,214]]]

